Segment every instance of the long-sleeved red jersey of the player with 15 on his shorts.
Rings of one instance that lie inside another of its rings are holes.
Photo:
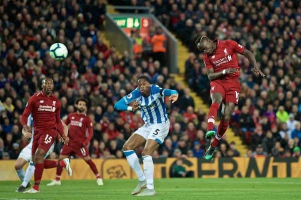
[[[27,118],[32,113],[34,135],[46,133],[48,129],[58,129],[63,134],[63,125],[59,125],[62,124],[60,111],[61,101],[54,94],[47,96],[42,91],[37,92],[28,100],[21,118],[22,125],[27,124]]]

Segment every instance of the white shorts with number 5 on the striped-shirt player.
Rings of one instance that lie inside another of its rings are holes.
[[[135,134],[141,135],[144,139],[154,139],[158,141],[159,144],[164,142],[165,137],[168,135],[170,128],[170,121],[164,123],[146,123],[139,127]]]

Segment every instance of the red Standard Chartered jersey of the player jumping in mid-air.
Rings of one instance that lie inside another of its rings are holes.
[[[213,54],[204,53],[204,62],[207,69],[213,68],[214,72],[222,71],[226,68],[233,67],[239,70],[236,52],[243,53],[245,47],[233,40],[217,39],[216,50]],[[239,72],[236,74],[227,74],[220,78],[223,80],[238,81]]]

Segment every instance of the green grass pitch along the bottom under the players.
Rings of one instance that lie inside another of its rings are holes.
[[[46,186],[42,181],[40,193],[15,192],[20,181],[0,181],[0,199],[301,199],[300,178],[176,178],[157,179],[157,196],[130,195],[136,180],[62,180],[61,186]]]

